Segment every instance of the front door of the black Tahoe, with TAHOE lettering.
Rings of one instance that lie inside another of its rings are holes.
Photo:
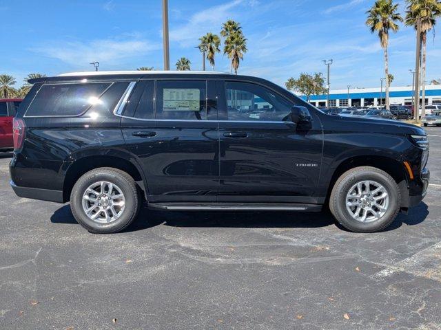
[[[290,121],[296,98],[275,89],[252,81],[218,83],[218,201],[322,202],[315,196],[322,158],[320,120],[311,113],[311,129],[299,130]]]

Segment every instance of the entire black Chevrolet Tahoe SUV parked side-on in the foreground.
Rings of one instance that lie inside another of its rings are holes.
[[[11,186],[118,232],[162,210],[320,211],[387,227],[429,182],[411,124],[327,115],[250,76],[94,72],[30,80],[14,118]],[[295,221],[295,218],[293,218]]]

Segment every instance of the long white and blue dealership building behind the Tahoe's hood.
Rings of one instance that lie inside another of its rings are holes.
[[[411,86],[389,88],[390,104],[412,104],[412,96]],[[385,97],[384,88],[336,89],[329,91],[329,104],[326,94],[311,96],[310,102],[316,107],[369,107],[384,104]],[[425,101],[426,104],[441,104],[441,85],[427,85]]]

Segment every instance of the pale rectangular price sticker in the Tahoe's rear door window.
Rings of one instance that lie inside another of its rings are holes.
[[[165,88],[163,111],[200,111],[201,90],[197,88]]]

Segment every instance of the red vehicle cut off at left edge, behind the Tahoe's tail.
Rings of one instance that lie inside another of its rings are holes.
[[[12,119],[21,101],[21,98],[0,98],[0,151],[14,148]]]

